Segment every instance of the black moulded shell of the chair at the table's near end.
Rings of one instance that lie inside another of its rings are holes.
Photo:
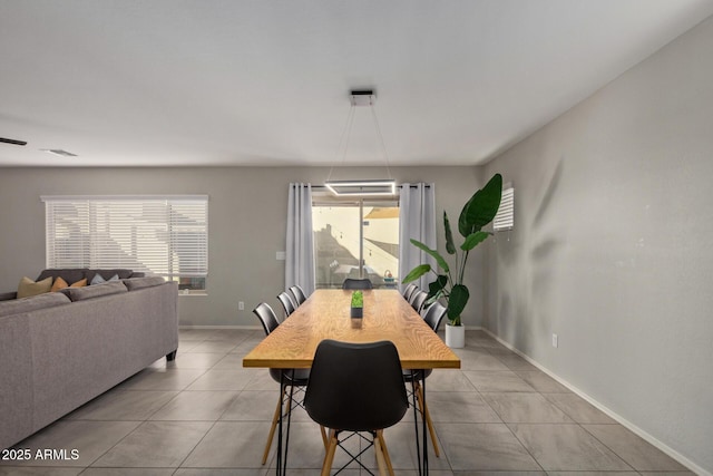
[[[328,428],[370,431],[399,422],[409,402],[393,342],[320,342],[304,407]]]

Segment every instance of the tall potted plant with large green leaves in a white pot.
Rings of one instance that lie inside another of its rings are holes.
[[[463,237],[463,243],[459,246],[460,251],[457,250],[453,244],[453,234],[450,229],[450,222],[448,221],[448,214],[443,211],[446,251],[448,254],[455,256],[452,266],[448,264],[448,261],[446,261],[438,251],[429,249],[418,240],[411,240],[414,246],[436,259],[440,273],[431,269],[430,264],[419,264],[407,274],[403,283],[409,283],[428,272],[433,272],[436,280],[429,283],[427,303],[432,303],[441,298],[446,300],[446,307],[448,309],[446,343],[449,347],[463,347],[465,344],[465,327],[460,322],[460,315],[470,298],[470,292],[463,284],[466,263],[468,262],[470,251],[492,234],[481,229],[492,222],[496,213],[498,213],[501,194],[502,176],[495,174],[490,181],[477,191],[466,203],[458,218],[458,231]]]

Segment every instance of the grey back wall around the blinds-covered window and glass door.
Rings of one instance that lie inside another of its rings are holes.
[[[460,213],[482,186],[476,167],[392,167],[399,182],[434,182],[439,214]],[[0,168],[0,290],[17,290],[23,275],[37,278],[45,268],[45,205],[40,195],[208,194],[208,295],[179,297],[183,326],[254,326],[252,309],[284,289],[287,185],[322,184],[329,168]],[[334,179],[373,178],[383,167],[338,168]],[[439,220],[439,246],[445,253]],[[472,256],[482,266],[485,252]],[[482,278],[471,273],[473,297],[465,322],[480,324]],[[245,302],[238,311],[237,302]]]

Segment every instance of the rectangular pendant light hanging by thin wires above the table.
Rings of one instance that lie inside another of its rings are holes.
[[[374,109],[374,103],[377,100],[377,96],[374,91],[369,90],[352,90],[350,93],[351,98],[351,109],[349,111],[349,116],[346,117],[346,124],[344,125],[344,130],[342,132],[342,138],[340,139],[339,150],[342,149],[343,143],[343,155],[342,155],[342,164],[344,164],[344,158],[346,157],[346,149],[349,147],[349,138],[352,132],[352,125],[354,124],[354,111],[356,107],[369,107],[371,109],[371,116],[374,122],[374,128],[377,129],[377,135],[379,136],[379,142],[381,143],[381,148],[383,150],[383,158],[385,162],[387,168],[387,178],[378,178],[378,179],[353,179],[353,181],[332,181],[332,172],[334,169],[334,165],[330,168],[330,175],[326,177],[326,182],[324,182],[324,186],[330,190],[336,196],[389,196],[395,195],[397,193],[397,182],[391,178],[391,169],[389,168],[389,155],[387,154],[387,146],[383,142],[383,135],[381,134],[381,127],[379,127],[379,119],[377,118],[377,110]],[[339,155],[339,153],[338,153]]]

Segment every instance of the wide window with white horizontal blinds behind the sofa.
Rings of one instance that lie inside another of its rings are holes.
[[[125,268],[205,290],[208,197],[43,196],[47,268]]]

